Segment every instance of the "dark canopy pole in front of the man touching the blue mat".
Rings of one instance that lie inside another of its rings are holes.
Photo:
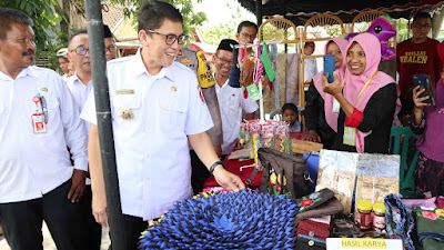
[[[100,0],[87,0],[85,9],[112,250],[124,250],[125,236],[123,230],[123,216],[120,203],[119,179],[117,173],[114,139],[111,123],[107,60],[103,41],[102,7]]]

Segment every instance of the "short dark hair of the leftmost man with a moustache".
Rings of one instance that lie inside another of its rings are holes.
[[[7,39],[8,32],[12,29],[12,23],[21,23],[32,27],[32,19],[24,12],[11,8],[0,8],[0,40]]]

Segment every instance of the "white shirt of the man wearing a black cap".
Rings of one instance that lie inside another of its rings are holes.
[[[234,148],[234,141],[241,129],[242,109],[246,113],[252,113],[258,110],[259,106],[251,100],[250,96],[246,99],[243,98],[241,88],[229,86],[229,80],[222,87],[215,84],[215,93],[222,118],[222,154],[229,154]]]

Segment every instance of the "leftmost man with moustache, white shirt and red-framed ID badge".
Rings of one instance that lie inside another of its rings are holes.
[[[78,202],[87,136],[79,110],[57,72],[31,66],[32,20],[0,8],[0,224],[14,250],[42,249],[43,220],[58,249],[87,249]]]

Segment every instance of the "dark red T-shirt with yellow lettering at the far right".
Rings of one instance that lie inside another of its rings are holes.
[[[410,88],[414,88],[413,74],[425,73],[431,76],[433,87],[441,79],[443,62],[437,53],[435,39],[413,43],[412,39],[405,40],[396,47],[396,70],[400,73],[400,89],[402,98],[412,98]]]

